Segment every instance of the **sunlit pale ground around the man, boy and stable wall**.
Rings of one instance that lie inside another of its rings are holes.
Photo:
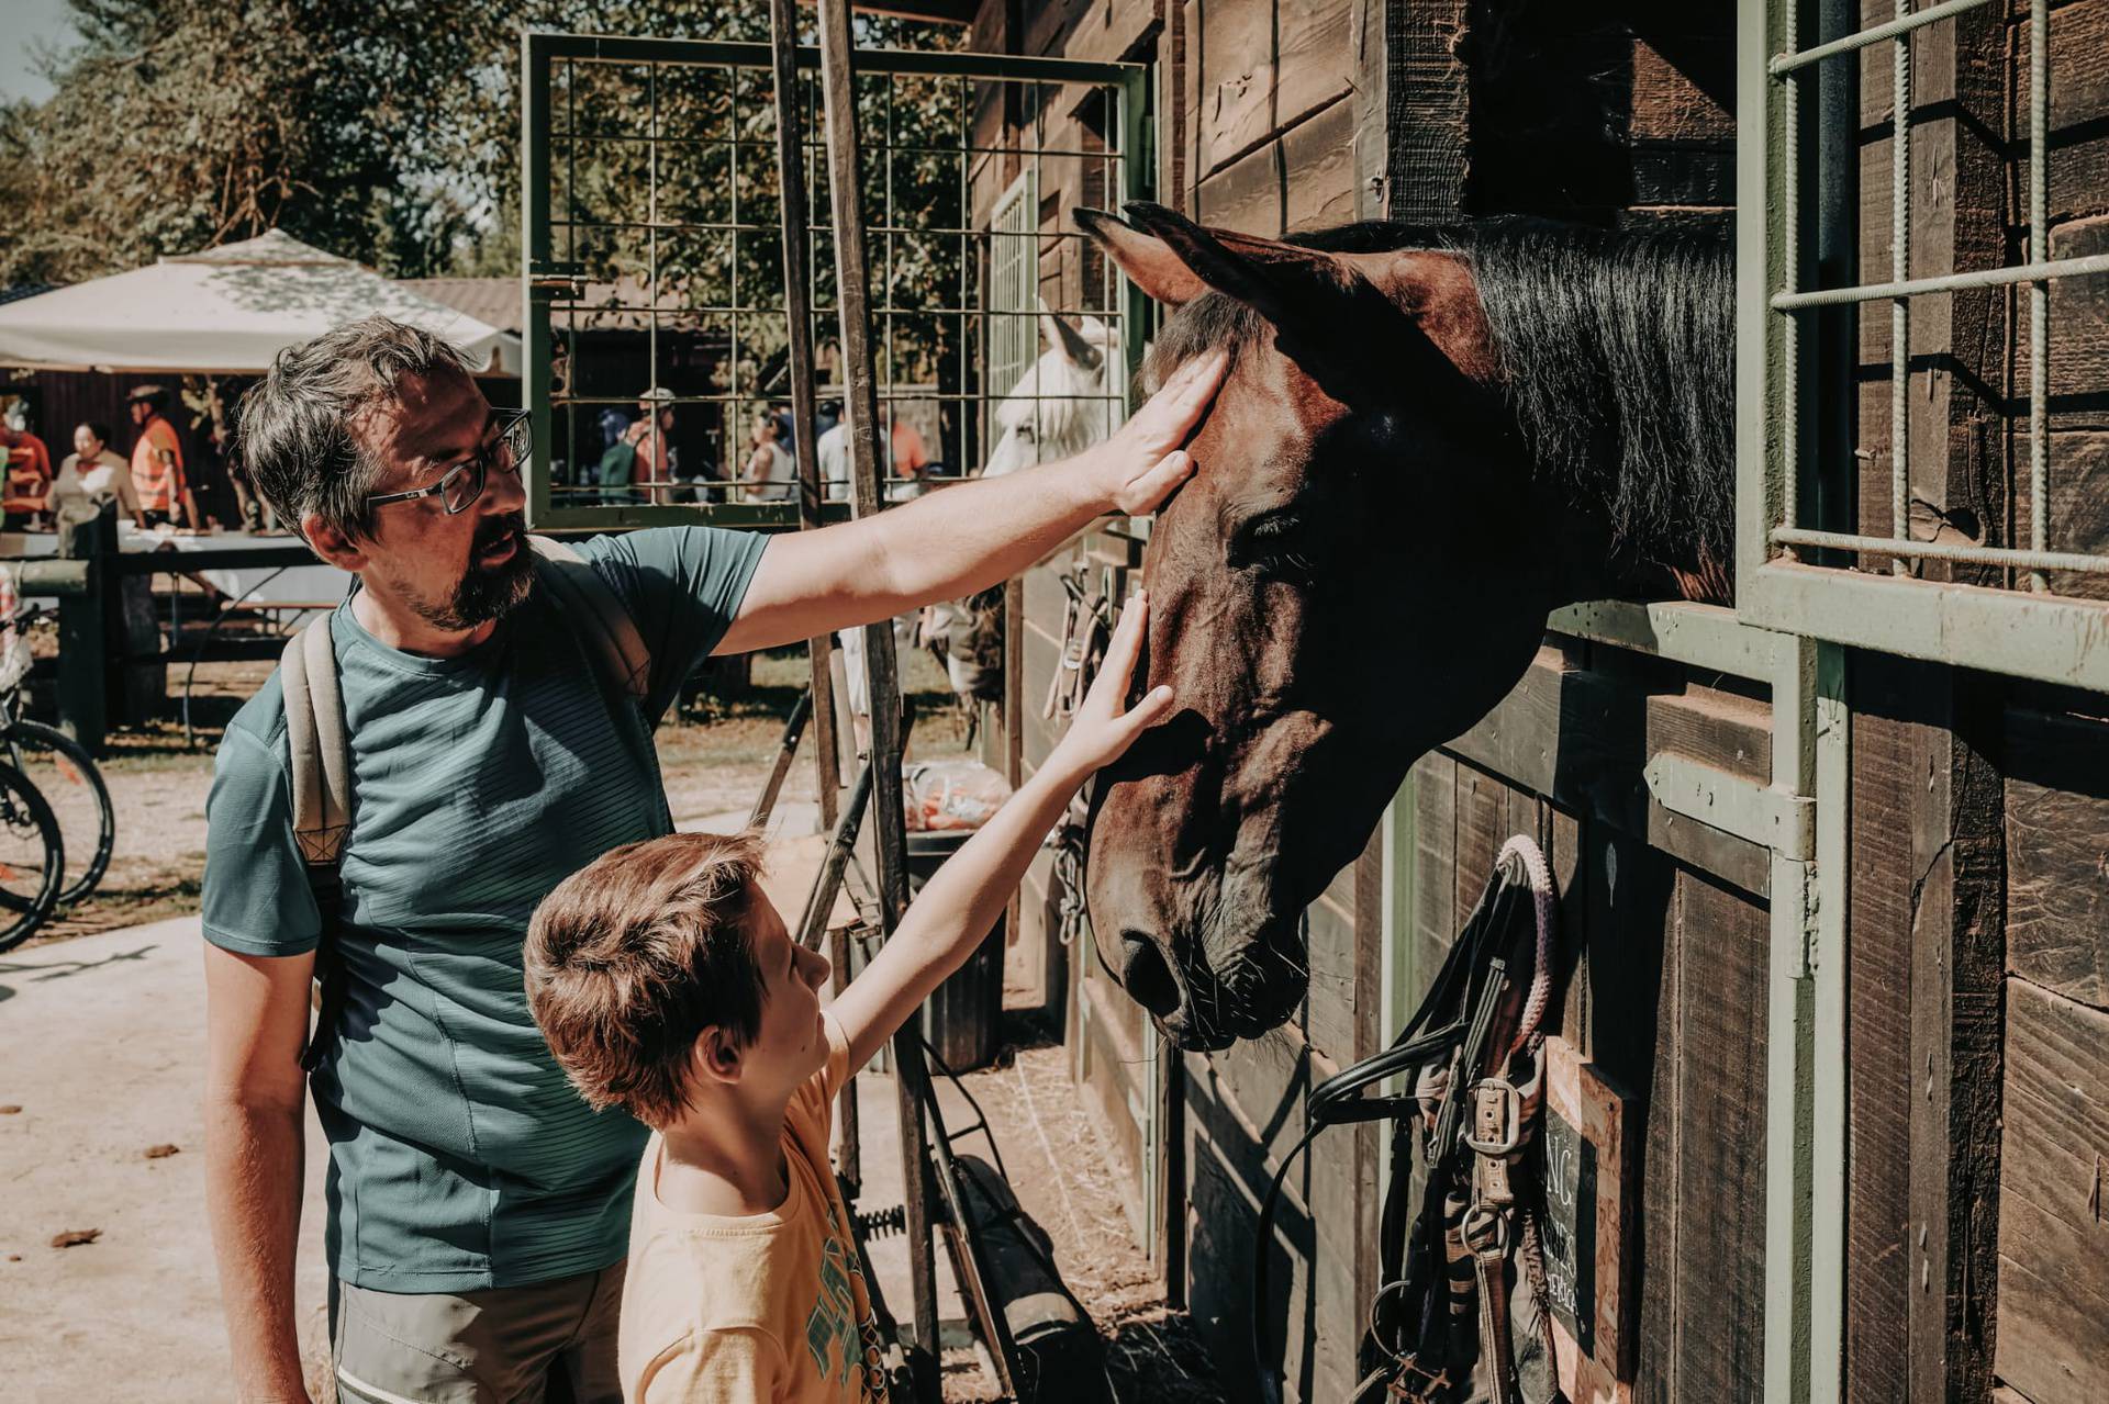
[[[939,668],[924,656],[905,664],[920,715],[911,757],[962,750],[964,719],[949,704]],[[751,685],[738,698],[704,696],[669,719],[660,757],[683,828],[736,824],[753,805],[776,757],[782,719],[804,687],[804,670],[801,651],[757,658]],[[103,763],[116,803],[110,875],[89,902],[0,957],[0,999],[40,995],[40,1001],[17,1003],[13,1018],[0,1008],[0,1185],[8,1187],[0,1212],[0,1294],[8,1301],[4,1315],[21,1330],[15,1345],[44,1343],[17,1358],[30,1377],[23,1381],[11,1368],[19,1381],[11,1393],[27,1383],[25,1398],[116,1398],[93,1362],[124,1339],[167,1343],[160,1364],[141,1374],[156,1381],[158,1398],[224,1393],[211,1254],[196,1212],[198,1157],[181,1155],[198,1143],[196,923],[186,917],[198,906],[213,748],[226,721],[268,672],[268,664],[200,666],[190,740],[181,721],[112,738]],[[179,683],[171,677],[171,687]],[[814,799],[808,757],[810,750],[801,750],[778,803],[793,824],[801,812],[810,814]],[[80,944],[70,951],[67,942],[76,940]],[[154,970],[143,970],[146,963]],[[1021,953],[1021,963],[1031,961]],[[1029,980],[1006,984],[1012,995],[1029,997]],[[76,1008],[55,1008],[55,993],[78,1001]],[[146,1052],[137,1029],[152,1020],[169,1022],[175,1037]],[[1065,1282],[1107,1341],[1116,1398],[1168,1404],[1221,1398],[1185,1315],[1166,1309],[1147,1259],[1128,1235],[1118,1210],[1126,1172],[1109,1159],[1097,1126],[1069,1090],[1065,1050],[1036,1037],[1023,1016],[1008,1025],[1014,1048],[998,1067],[968,1075],[966,1086],[989,1115],[1012,1189],[1052,1237]],[[869,1124],[888,1115],[892,1092],[884,1079],[867,1081],[873,1084],[863,1096],[873,1103]],[[179,1153],[146,1162],[141,1138],[177,1145]],[[316,1151],[310,1145],[310,1200]],[[165,1166],[175,1168],[173,1178],[150,1174]],[[141,1172],[154,1183],[141,1181]],[[877,1176],[879,1170],[867,1172],[867,1187]],[[898,1185],[896,1155],[892,1176]],[[312,1204],[310,1235],[318,1218],[318,1204]],[[89,1244],[61,1248],[53,1242],[67,1229],[105,1225],[108,1233]],[[314,1254],[310,1244],[304,1296],[318,1292]],[[892,1275],[886,1265],[879,1273],[882,1282]],[[888,1296],[896,1313],[909,1318],[905,1284]],[[955,1320],[964,1315],[957,1299],[951,1301],[945,1398],[998,1398],[974,1349],[951,1345],[964,1326]],[[327,1379],[321,1368],[325,1332],[318,1320],[308,1320],[318,1301],[306,1307],[304,1339],[314,1347],[316,1379]],[[0,1328],[0,1337],[11,1334],[17,1332]],[[0,1353],[17,1356],[13,1349]]]

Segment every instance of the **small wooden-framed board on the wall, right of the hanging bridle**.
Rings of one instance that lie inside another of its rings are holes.
[[[1630,1404],[1634,1307],[1628,1225],[1639,1195],[1630,1098],[1563,1037],[1546,1039],[1546,1288],[1561,1391]]]

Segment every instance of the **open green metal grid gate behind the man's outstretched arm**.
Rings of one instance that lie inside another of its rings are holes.
[[[823,382],[833,371],[833,384],[818,386],[825,430],[841,375],[818,67],[816,48],[797,51],[814,344]],[[768,44],[525,36],[525,392],[538,529],[797,525],[795,485],[749,470],[759,420],[791,403],[774,89]],[[998,384],[991,356],[1036,348],[1044,312],[1109,323],[1126,369],[1139,365],[1143,335],[1130,329],[1145,325],[1147,301],[1109,261],[1084,259],[1092,276],[1078,306],[1046,308],[998,287],[1010,272],[1008,282],[1038,291],[1046,264],[1082,234],[1048,228],[1036,202],[1012,230],[976,223],[974,211],[993,209],[1017,181],[1038,192],[1063,164],[1069,188],[1103,192],[1107,204],[1145,196],[1147,97],[1141,63],[856,53],[863,194],[877,215],[867,238],[879,417],[894,457],[888,498],[981,468],[1012,390]],[[1095,139],[1050,143],[1063,114],[1084,114]],[[1103,413],[1118,420],[1126,390],[1126,375],[1107,375],[1099,394],[1067,398],[1105,401]],[[1036,384],[1017,392],[1052,398]],[[829,512],[848,514],[846,470],[829,489]]]

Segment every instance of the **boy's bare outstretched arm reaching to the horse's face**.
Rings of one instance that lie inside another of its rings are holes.
[[[945,860],[894,938],[835,999],[835,1018],[850,1039],[852,1071],[869,1062],[879,1044],[983,942],[1078,786],[1170,715],[1170,687],[1156,687],[1135,710],[1122,710],[1147,622],[1149,605],[1137,594],[1120,611],[1105,666],[1069,721],[1069,734],[966,847]]]

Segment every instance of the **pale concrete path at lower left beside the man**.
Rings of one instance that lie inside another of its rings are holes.
[[[226,1400],[196,917],[0,955],[0,1360],[19,1400]],[[175,1153],[148,1159],[150,1147]],[[323,1132],[297,1303],[321,1353]],[[78,1248],[63,1231],[101,1229]]]

